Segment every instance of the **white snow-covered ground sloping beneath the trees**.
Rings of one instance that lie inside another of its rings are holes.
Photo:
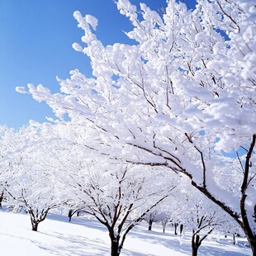
[[[78,256],[110,255],[110,242],[104,226],[88,218],[50,214],[40,223],[39,231],[31,230],[30,218],[23,214],[0,211],[0,241],[2,256]],[[221,242],[221,243],[220,243]],[[233,245],[231,238],[206,240],[199,249],[204,256],[251,255],[244,239]],[[173,229],[164,234],[160,225],[148,231],[146,225],[135,227],[128,234],[121,255],[132,256],[182,256],[191,255],[190,235],[186,233],[181,243]]]

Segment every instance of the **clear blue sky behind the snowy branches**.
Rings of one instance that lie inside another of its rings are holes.
[[[165,0],[130,2],[145,2],[155,10],[166,5]],[[45,103],[16,92],[17,86],[42,83],[58,92],[56,76],[69,78],[72,69],[90,74],[86,56],[72,48],[83,36],[73,18],[76,10],[97,17],[97,36],[104,45],[129,43],[122,31],[130,30],[130,21],[112,0],[0,0],[0,125],[17,128],[53,116]]]

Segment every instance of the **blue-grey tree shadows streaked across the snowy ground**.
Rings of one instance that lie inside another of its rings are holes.
[[[69,223],[68,216],[59,216],[55,214],[50,214],[48,216],[49,220],[58,220],[65,223]],[[83,225],[89,229],[102,230],[107,232],[107,229],[104,225],[99,223],[97,220],[86,219],[86,218],[77,218],[74,217],[71,222],[73,225]],[[50,234],[45,234],[50,235]],[[110,244],[106,244],[102,239],[89,239],[89,235],[63,235],[58,232],[53,232],[51,234],[53,237],[61,239],[64,244],[56,244],[55,247],[51,246],[51,248],[44,248],[40,244],[40,248],[47,249],[52,252],[58,254],[58,252],[64,253],[67,256],[103,256],[110,254]],[[191,237],[190,235],[185,235],[183,237],[183,242],[178,235],[173,235],[173,232],[167,231],[166,233],[159,231],[148,231],[145,230],[143,226],[137,226],[134,230],[131,230],[127,235],[127,240],[129,238],[140,239],[142,242],[149,242],[150,244],[161,244],[167,249],[177,251],[181,254],[192,254],[191,248]],[[126,241],[127,241],[126,240]],[[207,256],[240,256],[239,251],[236,251],[236,246],[234,246],[234,251],[226,248],[227,244],[220,244],[216,242],[216,246],[208,246],[207,244],[202,244],[199,248],[199,255],[207,255]],[[229,245],[232,246],[232,245]],[[239,246],[241,247],[241,246]],[[232,248],[231,248],[232,249]],[[133,251],[132,249],[126,249],[126,242],[124,245],[124,249],[121,251],[121,255],[130,255],[130,256],[145,256],[145,254],[141,254],[139,252]],[[247,255],[247,254],[244,254]],[[248,254],[249,255],[249,254]],[[149,255],[147,255],[149,256]],[[161,255],[165,256],[165,255]]]

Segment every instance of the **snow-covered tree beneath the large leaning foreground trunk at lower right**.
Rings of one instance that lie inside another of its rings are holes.
[[[230,186],[230,181],[225,182],[227,187]],[[233,186],[235,186],[234,183]],[[241,231],[235,220],[194,187],[189,186],[187,180],[183,180],[177,187],[176,195],[178,197],[164,201],[163,209],[158,209],[159,217],[161,218],[162,212],[164,213],[162,217],[172,220],[175,235],[178,235],[178,225],[192,233],[193,256],[197,255],[202,242],[213,232],[226,235]],[[182,234],[180,235],[182,239]]]

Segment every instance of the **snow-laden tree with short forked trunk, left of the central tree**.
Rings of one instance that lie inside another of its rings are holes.
[[[60,197],[64,187],[52,175],[55,159],[50,154],[51,145],[45,134],[47,131],[34,126],[17,131],[16,148],[9,152],[9,170],[5,175],[7,205],[12,211],[26,211],[34,231],[51,209],[64,203]]]

